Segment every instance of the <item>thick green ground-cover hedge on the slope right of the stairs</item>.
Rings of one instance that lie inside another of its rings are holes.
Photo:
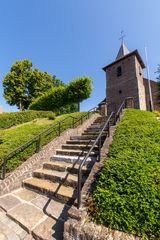
[[[160,239],[160,121],[154,113],[126,111],[92,200],[98,222]]]

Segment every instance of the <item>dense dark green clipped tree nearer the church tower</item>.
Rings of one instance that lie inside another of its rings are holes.
[[[90,97],[92,92],[92,80],[89,77],[81,77],[71,81],[67,86],[52,88],[42,96],[35,99],[30,105],[34,110],[59,111],[68,104],[79,103]]]

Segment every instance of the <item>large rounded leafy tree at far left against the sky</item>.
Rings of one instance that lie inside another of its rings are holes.
[[[20,110],[27,109],[33,99],[54,86],[63,85],[55,76],[32,69],[29,60],[16,61],[3,80],[4,97],[10,105]]]

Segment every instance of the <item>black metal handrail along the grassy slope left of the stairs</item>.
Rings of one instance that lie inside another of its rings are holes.
[[[93,112],[97,111],[97,107],[94,107],[92,109],[90,109],[86,114],[80,116],[80,117],[73,117],[73,116],[68,116],[64,119],[62,119],[61,121],[51,125],[49,128],[47,128],[46,130],[42,131],[41,133],[39,133],[38,135],[36,135],[35,137],[33,137],[32,139],[30,139],[29,141],[23,143],[22,145],[20,145],[19,147],[15,148],[14,150],[12,150],[11,152],[9,152],[3,159],[2,164],[0,165],[0,172],[1,172],[1,176],[0,179],[5,179],[6,176],[6,172],[7,172],[7,162],[9,159],[11,159],[14,155],[16,155],[17,153],[20,153],[21,151],[24,151],[25,149],[27,149],[31,144],[33,144],[34,142],[36,143],[36,150],[35,152],[38,153],[41,150],[41,141],[42,141],[42,137],[45,134],[50,134],[53,131],[55,131],[56,136],[60,136],[60,134],[63,132],[63,124],[66,122],[66,120],[68,120],[69,118],[72,119],[71,125],[69,128],[75,128],[81,124],[83,124],[84,120],[89,119],[90,114]],[[64,129],[66,130],[66,129]],[[35,153],[34,152],[34,153]]]

